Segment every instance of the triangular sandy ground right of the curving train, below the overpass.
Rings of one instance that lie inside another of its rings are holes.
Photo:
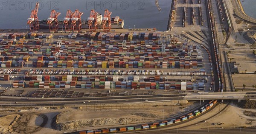
[[[216,128],[239,128],[239,127],[252,127],[256,126],[256,117],[248,117],[243,114],[246,111],[256,112],[256,109],[241,109],[237,107],[236,104],[231,103],[227,109],[218,114],[218,116],[212,117],[209,120],[207,118],[219,112],[221,108],[224,108],[226,104],[218,104],[211,112],[204,114],[204,116],[198,117],[196,120],[189,121],[187,123],[183,123],[178,126],[173,126],[170,128],[173,129],[188,129],[188,130],[198,130],[198,129],[216,129]],[[205,122],[206,120],[206,122]],[[215,126],[212,123],[221,123],[223,125]],[[189,126],[194,124],[192,126]],[[188,126],[188,127],[186,127]],[[209,130],[210,132],[210,130]]]

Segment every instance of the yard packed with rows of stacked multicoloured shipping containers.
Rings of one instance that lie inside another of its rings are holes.
[[[24,67],[13,88],[205,90],[197,78],[212,75],[201,47],[172,39],[163,49],[160,32],[63,34],[67,40],[36,32],[1,35],[0,66]]]

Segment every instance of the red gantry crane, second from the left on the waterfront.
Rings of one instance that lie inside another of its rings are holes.
[[[58,29],[58,16],[61,13],[56,12],[55,10],[51,11],[50,17],[47,19],[47,24],[49,25],[49,31],[52,30],[57,30]]]

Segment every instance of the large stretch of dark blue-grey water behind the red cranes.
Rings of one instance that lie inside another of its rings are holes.
[[[155,0],[38,0],[39,20],[47,19],[52,9],[61,13],[63,20],[68,9],[83,12],[82,19],[90,16],[90,10],[104,14],[105,8],[112,17],[119,16],[125,21],[125,28],[157,28],[166,31],[172,0],[159,0],[161,12],[155,6]],[[26,22],[38,1],[0,0],[0,29],[26,28]]]

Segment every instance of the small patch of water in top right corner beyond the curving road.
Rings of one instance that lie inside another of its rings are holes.
[[[240,0],[245,14],[250,17],[256,18],[256,0]]]

